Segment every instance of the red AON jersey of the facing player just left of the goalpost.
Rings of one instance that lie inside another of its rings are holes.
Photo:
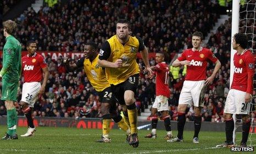
[[[201,47],[199,51],[196,51],[193,48],[183,51],[178,60],[190,61],[190,66],[187,66],[187,75],[185,80],[200,81],[207,79],[207,61],[210,60],[215,63],[218,58],[216,58],[213,52],[209,49]]]

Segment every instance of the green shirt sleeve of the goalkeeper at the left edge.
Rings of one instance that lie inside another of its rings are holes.
[[[3,62],[3,68],[1,69],[1,72],[0,72],[1,77],[4,76],[7,70],[12,66],[13,59],[14,59],[14,52],[15,52],[14,45],[12,44],[12,42],[7,42],[6,46],[8,46],[8,48],[4,50],[6,61]]]

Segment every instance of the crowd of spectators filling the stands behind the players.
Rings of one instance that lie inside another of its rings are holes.
[[[39,51],[81,52],[83,44],[93,40],[100,47],[106,39],[115,34],[115,21],[127,18],[131,22],[132,35],[144,40],[149,52],[164,51],[171,58],[187,48],[191,48],[191,34],[201,31],[209,33],[219,17],[219,5],[214,1],[70,1],[61,7],[42,7],[38,13],[33,9],[25,11],[16,20],[19,31],[16,36],[23,44],[27,40],[36,40]],[[186,3],[186,4],[185,4]],[[188,17],[189,16],[189,17]],[[2,29],[1,29],[2,30]],[[222,66],[214,82],[205,94],[202,109],[203,121],[222,122],[224,104],[230,84],[231,19],[225,21],[216,33],[211,33],[205,45],[219,58]],[[0,50],[4,37],[0,34]],[[50,71],[46,94],[35,103],[34,115],[45,117],[101,117],[101,102],[97,92],[88,82],[84,70],[66,72],[62,63],[46,57]],[[76,62],[75,57],[73,62]],[[138,59],[140,69],[143,62]],[[155,65],[154,58],[150,59]],[[208,64],[207,75],[213,72],[214,65]],[[177,104],[186,68],[172,72],[169,98],[171,120],[177,119]],[[139,114],[154,101],[155,79],[145,79],[140,75],[136,105]],[[21,81],[22,85],[22,81]],[[256,86],[256,85],[255,85]],[[255,96],[255,93],[254,93]],[[19,99],[21,92],[19,92]],[[254,101],[254,100],[253,100]],[[256,99],[255,99],[256,101]],[[19,115],[23,115],[16,103]],[[118,106],[118,111],[121,107]],[[3,102],[0,102],[0,115],[6,114]],[[187,110],[187,120],[193,120],[193,112]]]

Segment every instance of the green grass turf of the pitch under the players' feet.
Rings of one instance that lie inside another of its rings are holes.
[[[0,126],[3,136],[5,126]],[[18,128],[18,134],[26,132],[25,127]],[[157,131],[157,139],[146,139],[149,131],[139,131],[140,145],[133,148],[125,142],[123,131],[110,131],[112,143],[95,143],[101,138],[101,129],[76,129],[38,127],[33,137],[18,140],[1,140],[0,153],[229,153],[230,149],[215,149],[225,140],[224,132],[201,132],[199,144],[192,143],[193,132],[184,133],[183,143],[167,143],[163,137],[165,131]],[[176,131],[173,132],[177,134]],[[2,137],[1,136],[1,137]],[[237,135],[241,139],[241,134]],[[256,139],[256,134],[251,138]],[[253,144],[256,144],[253,141]],[[232,152],[233,153],[233,152]]]

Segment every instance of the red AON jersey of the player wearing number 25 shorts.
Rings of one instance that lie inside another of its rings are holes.
[[[32,57],[26,55],[21,58],[22,71],[25,82],[41,82],[42,68],[47,67],[42,55],[35,53]]]

